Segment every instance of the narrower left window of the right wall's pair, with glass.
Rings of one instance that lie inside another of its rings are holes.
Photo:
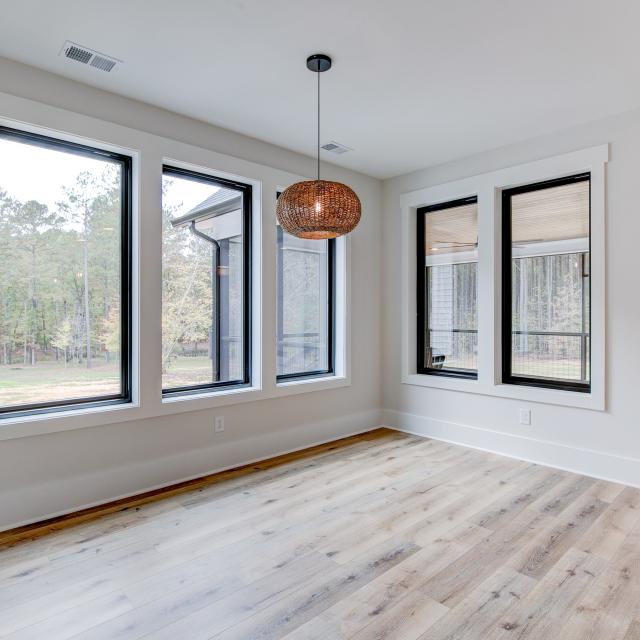
[[[417,212],[418,373],[476,378],[476,197]]]

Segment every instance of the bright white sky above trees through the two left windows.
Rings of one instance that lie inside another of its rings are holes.
[[[63,199],[64,186],[72,186],[82,171],[99,175],[104,165],[104,160],[0,138],[0,189],[17,200],[37,200],[53,210]],[[218,187],[172,177],[165,203],[178,206],[175,215],[180,216],[217,190]]]

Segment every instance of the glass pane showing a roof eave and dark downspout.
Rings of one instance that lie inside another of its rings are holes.
[[[241,382],[243,194],[163,177],[162,386]]]

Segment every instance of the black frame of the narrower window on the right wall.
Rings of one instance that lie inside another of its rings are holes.
[[[468,204],[478,204],[478,196],[467,196],[419,207],[416,211],[416,372],[420,375],[443,378],[462,378],[477,380],[478,370],[463,371],[455,369],[435,369],[425,366],[426,336],[429,323],[429,296],[427,294],[427,267],[425,266],[425,221],[426,216],[434,211],[453,209]],[[476,302],[478,292],[476,291]],[[477,333],[477,329],[476,329]]]

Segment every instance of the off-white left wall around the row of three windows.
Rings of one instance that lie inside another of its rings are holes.
[[[70,125],[78,135],[85,132],[98,140],[113,137],[118,144],[130,140],[134,149],[139,144],[171,148],[181,155],[204,158],[203,162],[212,158],[214,169],[260,180],[264,197],[269,198],[263,201],[262,215],[263,336],[275,336],[275,205],[271,191],[283,175],[313,175],[313,159],[3,59],[0,92],[0,117],[52,122],[60,130]],[[160,164],[150,168],[144,163],[143,157],[144,172],[156,171]],[[88,428],[0,439],[0,530],[379,424],[380,182],[332,165],[324,167],[324,174],[351,185],[363,204],[362,221],[349,246],[350,386],[197,411],[193,408],[200,409],[202,403],[184,402],[182,413],[110,424],[100,424],[99,417],[94,417],[95,426]],[[157,197],[151,196],[153,204]],[[156,207],[149,206],[148,194],[143,193],[142,198],[146,205],[141,206],[141,231],[158,233]],[[268,238],[273,240],[272,252]],[[153,341],[159,335],[158,318],[152,317],[148,307],[158,304],[160,247],[143,243],[140,333],[142,341]],[[267,372],[274,369],[275,347],[270,341],[265,354],[263,370]],[[146,388],[153,391],[148,377],[158,376],[159,370],[150,369],[147,362],[141,363],[141,372]],[[271,380],[265,384],[273,387]],[[145,403],[149,404],[142,397]],[[139,415],[147,414],[143,409]],[[214,415],[224,415],[226,427],[215,438]],[[75,424],[70,418],[66,426]]]

